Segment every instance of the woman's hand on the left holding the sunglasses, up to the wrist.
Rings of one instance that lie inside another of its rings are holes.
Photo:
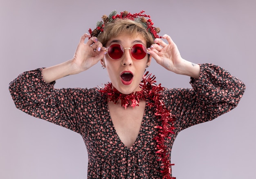
[[[90,35],[86,33],[81,37],[72,59],[72,62],[78,68],[78,72],[85,71],[98,63],[99,60],[103,59],[106,52],[106,48],[102,47],[97,37],[91,37],[85,43],[85,38],[89,37]]]

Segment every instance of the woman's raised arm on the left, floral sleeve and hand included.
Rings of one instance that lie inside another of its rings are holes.
[[[81,115],[81,100],[90,98],[88,96],[94,93],[93,89],[55,89],[54,83],[63,76],[87,70],[103,57],[102,44],[95,37],[85,44],[86,37],[89,35],[81,37],[71,60],[49,68],[24,72],[11,81],[9,91],[18,109],[79,132],[77,120]],[[96,48],[98,50],[94,50]]]

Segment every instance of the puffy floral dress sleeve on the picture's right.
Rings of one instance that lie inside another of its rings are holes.
[[[192,89],[169,89],[164,99],[177,117],[178,131],[234,109],[245,92],[242,81],[213,64],[200,64],[199,79],[190,83]]]

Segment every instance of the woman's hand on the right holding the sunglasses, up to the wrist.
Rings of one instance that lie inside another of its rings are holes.
[[[155,39],[154,42],[156,44],[152,44],[152,46],[148,48],[148,52],[157,63],[167,70],[177,73],[176,68],[184,59],[180,56],[180,52],[170,36],[164,35],[163,39],[166,39],[168,44],[162,39]]]

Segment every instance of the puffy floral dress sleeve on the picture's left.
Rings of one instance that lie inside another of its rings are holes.
[[[81,98],[87,98],[87,89],[55,89],[54,84],[43,80],[41,68],[20,74],[9,91],[21,111],[79,133]]]

